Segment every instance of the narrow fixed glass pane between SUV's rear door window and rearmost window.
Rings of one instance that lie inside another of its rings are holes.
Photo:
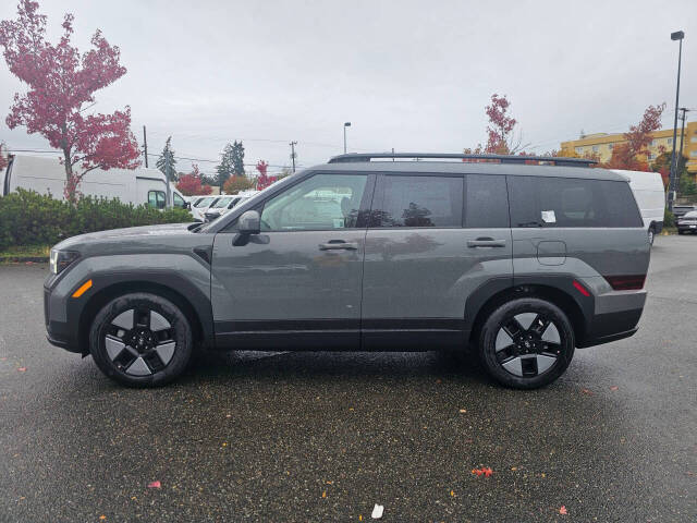
[[[467,174],[465,227],[498,229],[509,227],[509,196],[504,175]]]

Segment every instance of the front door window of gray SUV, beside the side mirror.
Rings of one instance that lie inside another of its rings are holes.
[[[321,231],[360,227],[359,209],[367,182],[365,174],[315,174],[266,202],[261,230]]]

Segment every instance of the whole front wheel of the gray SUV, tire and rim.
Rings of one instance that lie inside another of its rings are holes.
[[[182,311],[150,293],[132,293],[109,302],[95,316],[89,352],[109,378],[129,387],[166,385],[192,358],[192,328]]]

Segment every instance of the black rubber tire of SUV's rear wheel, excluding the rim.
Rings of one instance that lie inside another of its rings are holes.
[[[496,337],[502,324],[521,313],[541,313],[549,317],[562,337],[562,353],[546,373],[534,378],[521,378],[504,369],[496,357]],[[574,356],[574,331],[566,315],[550,302],[540,299],[525,297],[513,300],[497,308],[485,323],[479,336],[479,357],[489,375],[501,385],[516,389],[536,389],[551,384],[559,378]]]

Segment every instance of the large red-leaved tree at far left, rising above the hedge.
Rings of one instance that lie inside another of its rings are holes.
[[[63,19],[63,35],[53,45],[46,40],[46,15],[38,2],[21,0],[17,19],[0,22],[0,46],[10,72],[27,84],[14,95],[5,122],[10,129],[25,125],[63,154],[65,197],[80,197],[78,185],[93,169],[134,169],[139,165],[138,144],[131,132],[131,109],[111,114],[83,115],[95,101],[94,93],[126,72],[120,50],[97,31],[93,49],[81,54],[71,46],[73,15]]]

